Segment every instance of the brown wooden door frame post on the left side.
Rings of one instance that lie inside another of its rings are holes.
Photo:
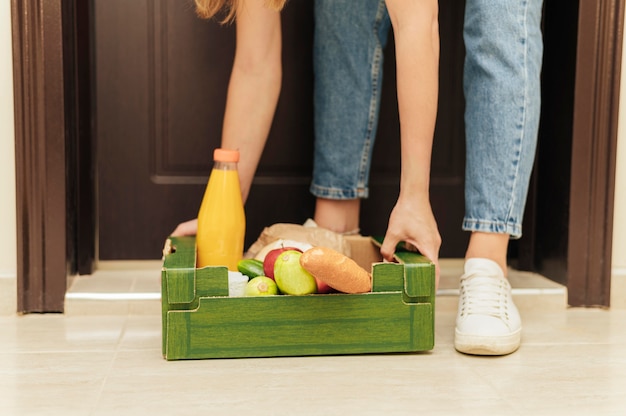
[[[90,5],[11,0],[18,313],[63,312],[93,271]]]

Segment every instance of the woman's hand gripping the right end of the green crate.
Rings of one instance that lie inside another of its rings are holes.
[[[441,236],[427,198],[399,198],[389,217],[387,234],[380,249],[383,258],[393,260],[396,246],[404,241],[435,264],[435,288],[439,287]]]

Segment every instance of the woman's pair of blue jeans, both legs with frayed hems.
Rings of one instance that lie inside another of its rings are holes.
[[[543,0],[466,0],[463,229],[521,236],[537,143]],[[368,196],[378,124],[384,0],[315,2],[311,193]]]

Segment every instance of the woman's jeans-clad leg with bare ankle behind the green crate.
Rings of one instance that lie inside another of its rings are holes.
[[[378,125],[383,49],[389,32],[383,0],[315,2],[314,220],[338,232],[358,229],[368,196]]]

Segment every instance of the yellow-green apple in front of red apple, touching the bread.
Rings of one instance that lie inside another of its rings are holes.
[[[315,277],[300,265],[299,250],[286,250],[278,255],[274,264],[274,280],[278,290],[286,295],[317,293]]]

